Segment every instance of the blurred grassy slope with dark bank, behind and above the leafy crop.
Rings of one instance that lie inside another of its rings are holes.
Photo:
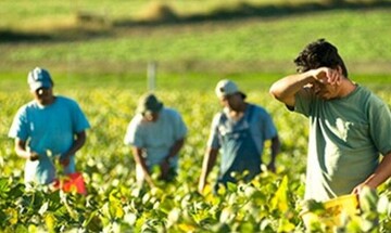
[[[278,78],[295,72],[293,59],[318,38],[339,48],[351,73],[384,75],[390,10],[389,0],[1,0],[0,78],[43,66],[144,86],[151,64],[173,80]]]

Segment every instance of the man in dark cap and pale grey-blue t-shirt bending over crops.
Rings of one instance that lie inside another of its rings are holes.
[[[131,146],[138,183],[146,181],[154,186],[151,176],[154,170],[160,171],[160,180],[172,181],[177,176],[178,153],[187,134],[180,114],[164,107],[153,93],[140,98],[136,112],[124,142]]]

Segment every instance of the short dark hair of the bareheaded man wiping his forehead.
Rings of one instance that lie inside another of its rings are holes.
[[[294,64],[298,66],[299,73],[323,66],[329,68],[341,66],[343,76],[348,78],[348,69],[343,60],[338,54],[338,49],[325,39],[318,39],[307,44],[304,50],[299,53],[299,56],[294,60]]]

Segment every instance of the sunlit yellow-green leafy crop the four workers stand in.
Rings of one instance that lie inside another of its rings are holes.
[[[304,191],[307,121],[273,100],[268,85],[260,81],[263,85],[256,88],[256,79],[245,78],[237,82],[244,87],[250,102],[263,105],[273,115],[282,151],[276,173],[265,171],[250,184],[230,185],[217,196],[197,192],[210,124],[213,114],[219,111],[212,85],[209,89],[187,90],[178,86],[156,90],[166,106],[182,114],[189,134],[180,152],[177,180],[159,183],[151,190],[137,187],[135,163],[123,144],[137,99],[144,89],[121,88],[115,81],[106,81],[100,88],[83,87],[80,81],[59,81],[55,92],[77,100],[92,126],[85,147],[76,155],[77,168],[87,183],[87,196],[25,190],[24,160],[13,152],[13,142],[7,133],[17,107],[29,101],[30,95],[27,87],[1,91],[1,229],[5,232],[303,232],[299,213]],[[376,93],[391,104],[388,87],[366,85],[377,87]],[[268,154],[269,151],[264,152],[265,161]],[[209,179],[212,185],[216,176],[217,166]],[[390,187],[387,183],[379,189],[382,206],[379,204],[377,208],[374,203],[375,209],[366,210],[343,229],[387,232]],[[379,218],[378,225],[371,221],[375,217]],[[321,228],[325,225],[318,225],[318,230]]]

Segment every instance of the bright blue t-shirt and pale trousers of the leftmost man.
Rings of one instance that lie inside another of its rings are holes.
[[[9,137],[27,142],[27,150],[40,155],[39,160],[26,160],[25,182],[52,182],[56,172],[53,160],[71,148],[76,133],[89,127],[78,104],[64,96],[56,96],[54,103],[47,106],[36,101],[22,106],[12,122]],[[73,173],[75,170],[74,156],[71,156],[64,172]]]

